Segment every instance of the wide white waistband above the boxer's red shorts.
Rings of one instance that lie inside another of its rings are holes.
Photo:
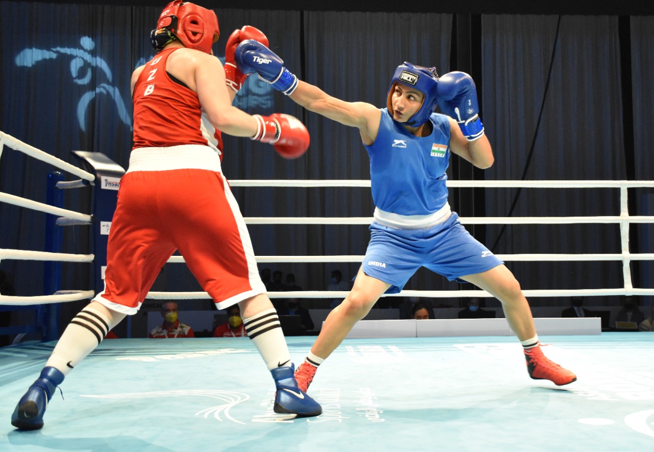
[[[186,168],[222,171],[220,156],[212,148],[203,145],[179,145],[133,149],[129,156],[127,172]]]

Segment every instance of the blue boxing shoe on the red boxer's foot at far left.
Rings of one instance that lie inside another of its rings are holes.
[[[44,367],[37,381],[32,383],[16,405],[14,414],[11,415],[11,425],[23,430],[39,430],[43,427],[45,409],[62,381],[63,374],[59,370]]]

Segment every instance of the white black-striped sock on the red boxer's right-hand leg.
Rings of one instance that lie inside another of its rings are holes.
[[[264,358],[268,370],[290,367],[290,353],[275,308],[243,319],[247,335]]]

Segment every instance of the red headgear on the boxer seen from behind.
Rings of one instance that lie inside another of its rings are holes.
[[[179,39],[188,48],[211,54],[211,46],[218,36],[218,16],[213,10],[175,0],[163,9],[156,29],[150,32],[150,41],[154,50],[162,50]]]

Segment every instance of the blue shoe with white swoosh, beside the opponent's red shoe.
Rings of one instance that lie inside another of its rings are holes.
[[[294,376],[295,366],[278,367],[270,371],[275,379],[275,413],[311,417],[322,413],[320,404],[301,391]]]

